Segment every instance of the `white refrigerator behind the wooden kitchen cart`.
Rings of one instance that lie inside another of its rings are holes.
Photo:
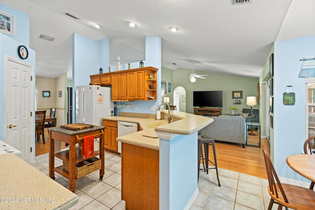
[[[75,98],[76,122],[102,125],[101,118],[111,116],[111,88],[78,86],[75,88]],[[94,150],[99,150],[99,139],[94,141]]]

